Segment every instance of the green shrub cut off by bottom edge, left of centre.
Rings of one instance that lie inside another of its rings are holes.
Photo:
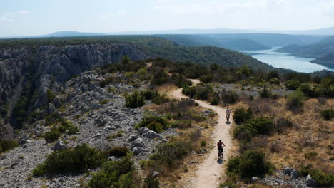
[[[136,184],[133,179],[133,172],[133,161],[130,157],[124,157],[123,160],[105,162],[101,170],[93,174],[88,185],[93,188],[134,188]]]

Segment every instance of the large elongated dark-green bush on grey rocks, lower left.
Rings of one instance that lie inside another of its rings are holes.
[[[38,177],[46,173],[87,172],[88,169],[99,167],[103,160],[101,152],[83,144],[74,149],[52,152],[32,173]]]

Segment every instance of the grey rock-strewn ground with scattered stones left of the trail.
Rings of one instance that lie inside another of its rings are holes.
[[[165,137],[176,135],[172,130],[161,134],[147,128],[133,128],[141,121],[142,108],[125,108],[124,92],[132,92],[135,88],[124,83],[99,86],[99,82],[108,75],[95,71],[81,73],[64,83],[64,91],[49,103],[51,113],[59,113],[79,127],[75,135],[62,135],[56,144],[50,144],[41,138],[44,132],[51,129],[45,126],[45,120],[39,120],[17,132],[21,147],[16,147],[0,158],[0,187],[80,187],[83,179],[89,175],[65,174],[51,179],[31,178],[31,171],[37,164],[46,159],[53,150],[74,147],[83,143],[98,149],[126,146],[133,151],[135,160],[147,158],[154,145],[166,142]],[[115,77],[123,78],[118,73]],[[146,85],[141,85],[141,88]],[[108,101],[100,103],[102,100]],[[148,102],[149,104],[149,102]],[[115,135],[111,140],[110,135]],[[68,142],[68,143],[67,143]],[[66,144],[67,143],[67,144]],[[115,160],[112,157],[111,160]]]

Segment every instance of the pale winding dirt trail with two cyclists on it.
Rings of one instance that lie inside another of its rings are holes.
[[[199,80],[191,80],[194,85],[199,83]],[[171,91],[171,95],[174,98],[187,98],[186,95],[182,94],[182,88],[178,90]],[[196,102],[204,108],[210,108],[215,113],[218,114],[218,125],[213,130],[213,135],[211,135],[214,140],[213,145],[216,146],[216,142],[218,140],[222,140],[226,147],[224,148],[224,162],[227,160],[228,151],[231,148],[231,137],[229,134],[230,125],[226,124],[226,115],[225,109],[210,105],[209,103],[203,100],[196,100]],[[219,180],[223,171],[223,164],[219,164],[217,162],[218,151],[217,148],[214,147],[212,150],[208,152],[206,159],[202,164],[199,165],[198,170],[196,172],[195,182],[193,187],[195,188],[216,188],[218,187]]]

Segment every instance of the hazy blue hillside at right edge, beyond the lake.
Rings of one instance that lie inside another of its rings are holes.
[[[313,63],[318,63],[328,68],[334,68],[334,36],[328,36],[322,40],[305,46],[285,46],[278,52],[291,53],[296,56],[315,58]]]

